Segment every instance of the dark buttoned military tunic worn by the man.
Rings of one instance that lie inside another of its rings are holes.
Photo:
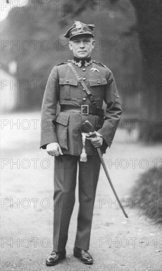
[[[55,66],[50,73],[43,98],[40,146],[45,149],[48,143],[58,142],[64,154],[80,155],[83,147],[80,127],[85,120],[89,120],[95,130],[102,124],[98,133],[104,139],[101,147],[104,153],[107,146],[111,146],[122,112],[113,74],[109,68],[92,61],[87,67],[71,64],[93,94],[96,106],[101,108],[103,101],[107,104],[105,118],[102,120],[99,115],[82,115],[80,112],[65,110],[57,114],[58,102],[61,108],[67,105],[71,108],[92,106],[92,103],[67,63]],[[86,153],[97,155],[90,140],[86,140]]]

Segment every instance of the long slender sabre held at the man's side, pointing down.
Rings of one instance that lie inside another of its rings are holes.
[[[86,134],[90,134],[91,137],[97,137],[97,135],[96,135],[96,133],[95,133],[94,127],[92,126],[92,124],[91,124],[88,120],[86,120],[86,121],[81,125],[81,132],[82,132],[82,133],[86,133]],[[120,205],[120,207],[121,207],[121,209],[122,209],[122,211],[123,211],[125,217],[128,218],[128,215],[126,214],[126,212],[125,212],[125,210],[124,210],[124,208],[123,208],[123,206],[122,206],[122,204],[121,204],[121,202],[120,202],[120,200],[119,200],[119,198],[118,198],[118,195],[117,195],[117,193],[116,193],[116,191],[115,191],[115,189],[114,189],[114,186],[113,186],[113,184],[112,184],[112,181],[111,181],[111,179],[110,179],[109,173],[108,173],[108,171],[107,171],[107,169],[106,169],[106,166],[105,166],[105,164],[104,164],[104,162],[103,162],[102,154],[101,154],[100,148],[97,148],[97,153],[98,153],[98,155],[99,155],[101,164],[102,164],[102,166],[103,166],[103,169],[104,169],[104,171],[105,171],[105,174],[106,174],[106,176],[107,176],[107,179],[108,179],[108,181],[109,181],[109,183],[110,183],[110,186],[111,186],[111,188],[112,188],[112,190],[113,190],[113,192],[114,192],[114,195],[115,195],[115,197],[116,197],[116,199],[117,199],[117,201],[118,201],[118,203],[119,203],[119,205]]]

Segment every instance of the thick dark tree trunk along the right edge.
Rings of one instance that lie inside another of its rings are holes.
[[[162,121],[162,3],[161,0],[134,3],[143,63],[141,117],[145,121],[141,122],[140,138],[156,141],[161,139]]]

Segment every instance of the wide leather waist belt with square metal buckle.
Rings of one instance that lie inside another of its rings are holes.
[[[62,105],[61,106],[61,111],[64,111],[64,112],[79,112],[82,115],[93,114],[93,115],[99,115],[101,117],[104,116],[104,110],[102,108],[96,107],[96,106],[90,106],[88,104],[81,105],[81,107],[79,107],[79,106],[71,106],[71,105]]]

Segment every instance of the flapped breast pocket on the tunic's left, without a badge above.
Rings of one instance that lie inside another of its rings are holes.
[[[63,78],[60,77],[60,99],[61,100],[71,100],[71,92],[77,86],[78,81],[74,78]]]

